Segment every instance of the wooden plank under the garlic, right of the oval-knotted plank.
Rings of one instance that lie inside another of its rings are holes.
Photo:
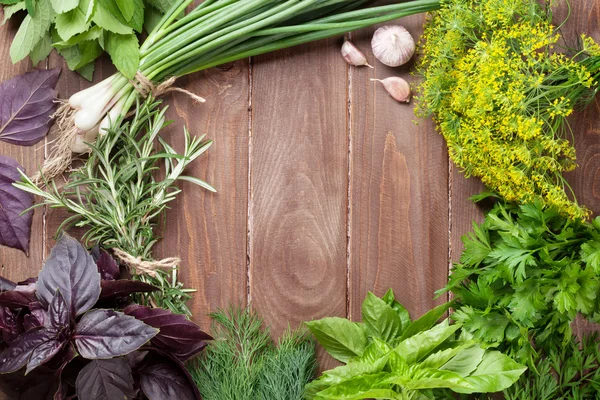
[[[417,39],[423,16],[399,23]],[[430,121],[413,123],[413,105],[399,104],[380,84],[410,76],[414,63],[389,68],[375,60],[374,29],[355,33],[357,46],[374,69],[351,72],[350,315],[360,319],[367,291],[390,287],[397,299],[420,316],[444,301],[448,265],[448,158]]]

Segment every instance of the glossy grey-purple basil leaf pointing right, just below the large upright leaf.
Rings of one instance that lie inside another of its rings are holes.
[[[75,344],[84,358],[111,358],[139,349],[157,333],[158,329],[121,312],[92,310],[81,317]]]

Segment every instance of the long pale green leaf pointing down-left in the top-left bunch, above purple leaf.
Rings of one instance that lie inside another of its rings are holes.
[[[49,0],[39,0],[35,9],[34,16],[25,17],[10,46],[10,58],[13,63],[21,61],[33,51],[54,20],[54,10]]]

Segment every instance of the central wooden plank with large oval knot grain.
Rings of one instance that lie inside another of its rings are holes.
[[[275,335],[288,323],[346,315],[347,81],[338,45],[261,56],[253,67],[250,297]]]

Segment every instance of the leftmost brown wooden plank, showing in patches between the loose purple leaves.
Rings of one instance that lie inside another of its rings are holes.
[[[4,16],[0,12],[0,18]],[[31,61],[23,60],[13,65],[9,49],[14,34],[19,24],[8,21],[0,26],[0,81],[10,79],[30,69]],[[38,68],[46,68],[45,62],[40,63]],[[21,164],[26,171],[35,171],[37,166],[44,160],[44,141],[33,146],[16,146],[0,141],[0,154],[12,157]],[[44,210],[38,209],[34,213],[31,226],[31,240],[29,257],[19,250],[0,247],[0,275],[13,281],[20,281],[31,276],[36,276],[42,267],[42,249],[44,247]]]

